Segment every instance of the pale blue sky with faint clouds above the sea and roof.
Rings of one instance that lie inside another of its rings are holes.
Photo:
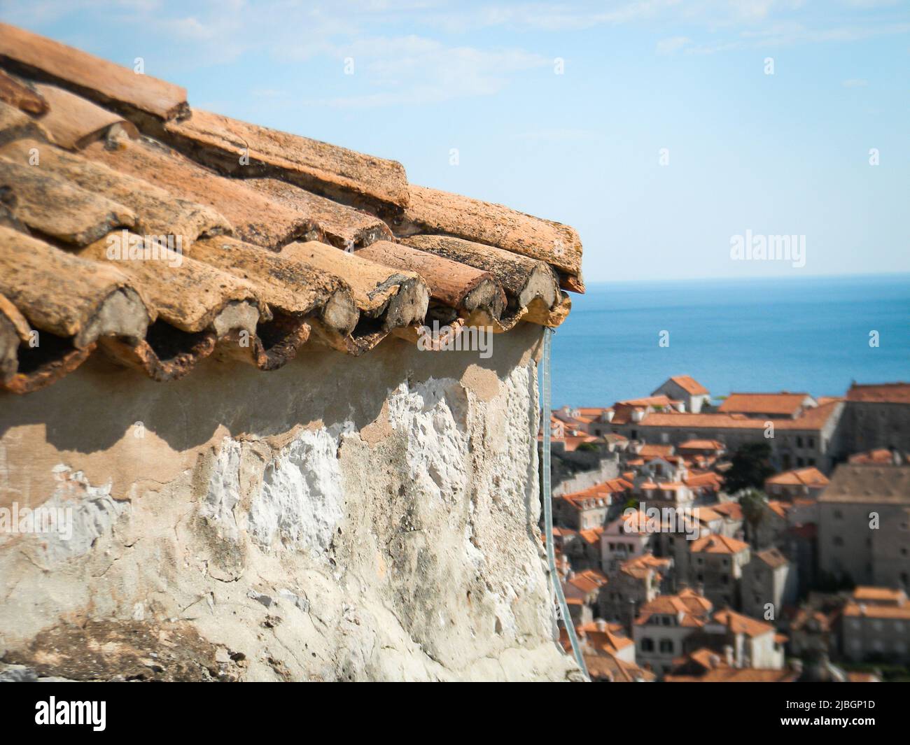
[[[141,57],[190,106],[567,223],[588,282],[910,271],[907,2],[0,0],[0,18]],[[804,253],[732,255],[779,235]]]

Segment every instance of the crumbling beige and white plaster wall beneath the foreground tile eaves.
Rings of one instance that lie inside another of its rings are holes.
[[[93,358],[0,398],[0,654],[157,680],[567,680],[539,530],[535,355],[387,340],[156,384]],[[0,666],[2,667],[2,666]],[[17,670],[22,670],[17,668]]]

